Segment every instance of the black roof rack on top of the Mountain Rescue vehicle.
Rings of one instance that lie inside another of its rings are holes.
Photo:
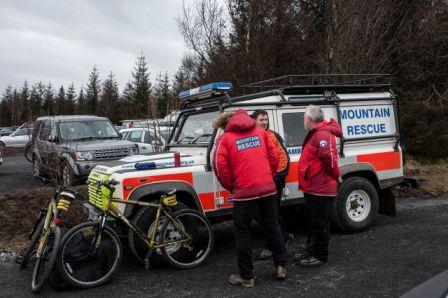
[[[310,87],[368,87],[390,86],[389,74],[314,74],[314,75],[286,75],[269,80],[250,83],[242,86],[243,90],[255,89],[266,91],[285,88]]]

